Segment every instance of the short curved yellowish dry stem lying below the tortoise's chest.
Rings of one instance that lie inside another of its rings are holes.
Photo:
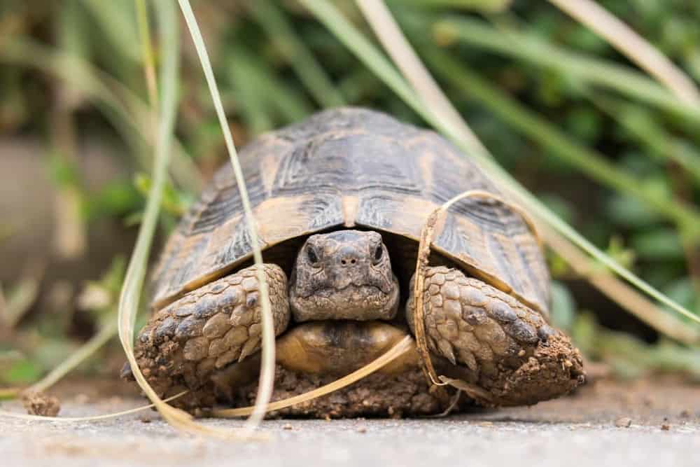
[[[349,375],[337,379],[332,383],[326,384],[325,386],[321,386],[320,388],[314,389],[313,391],[300,394],[299,396],[294,396],[283,400],[276,400],[273,403],[269,403],[267,404],[267,407],[265,407],[265,412],[271,412],[272,410],[280,410],[285,407],[300,404],[302,402],[306,402],[307,400],[325,396],[326,394],[332,393],[333,391],[337,391],[338,389],[344,388],[345,386],[349,386],[349,384],[353,384],[354,382],[357,382],[360,379],[371,375],[373,372],[379,370],[379,368],[388,365],[388,363],[391,363],[396,358],[405,354],[407,351],[410,351],[412,340],[412,337],[407,335],[402,340],[400,340],[398,344],[395,344],[395,346],[391,347],[391,349],[388,349],[386,353],[382,354],[374,361],[367,363],[367,365],[363,366],[359,370],[355,370]],[[214,417],[222,418],[244,417],[245,415],[253,413],[254,409],[255,406],[239,407],[237,409],[214,410],[211,413],[214,415]]]

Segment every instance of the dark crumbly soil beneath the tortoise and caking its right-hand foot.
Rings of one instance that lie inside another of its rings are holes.
[[[436,362],[442,358],[433,356]],[[574,363],[571,363],[571,362]],[[564,365],[568,362],[568,366]],[[417,363],[417,362],[416,362]],[[446,363],[446,362],[445,362]],[[443,367],[442,374],[447,374],[449,365]],[[575,370],[575,371],[574,371]],[[466,370],[463,374],[449,375],[469,380]],[[294,372],[276,365],[275,386],[272,400],[282,400],[312,391],[329,384],[337,376],[309,375]],[[359,382],[338,391],[313,400],[288,407],[279,412],[271,412],[269,417],[313,417],[313,418],[351,418],[351,417],[420,417],[440,414],[448,409],[458,413],[474,407],[475,400],[482,406],[532,405],[536,400],[556,397],[562,388],[570,391],[580,382],[584,382],[581,370],[581,357],[571,347],[566,337],[554,335],[549,337],[546,345],[540,344],[533,354],[517,370],[507,369],[498,372],[502,379],[493,384],[492,392],[486,394],[488,399],[478,396],[473,391],[458,394],[454,389],[433,388],[429,390],[426,377],[418,365],[404,370],[398,375],[385,375],[375,372]],[[437,390],[435,390],[437,389]],[[233,407],[253,405],[258,391],[257,382],[241,387],[232,400]],[[496,403],[493,403],[496,398]]]

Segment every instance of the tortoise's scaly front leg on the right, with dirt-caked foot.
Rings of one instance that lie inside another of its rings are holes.
[[[406,305],[414,330],[414,279]],[[579,351],[542,316],[479,279],[429,267],[423,291],[428,349],[489,393],[483,405],[532,405],[584,381]],[[479,396],[475,396],[479,399]]]

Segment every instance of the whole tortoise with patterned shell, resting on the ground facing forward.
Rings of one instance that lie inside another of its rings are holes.
[[[548,323],[549,275],[535,234],[435,132],[344,107],[264,134],[239,159],[277,336],[273,399],[346,375],[414,333],[421,229],[465,190],[496,196],[467,198],[442,216],[423,292],[431,359],[486,395],[462,395],[458,406],[532,405],[584,381],[579,351]],[[135,344],[160,396],[189,389],[173,402],[179,407],[206,412],[255,398],[261,307],[252,251],[227,164],[169,237],[155,271],[153,315]],[[449,400],[431,386],[414,349],[281,413],[434,414]]]

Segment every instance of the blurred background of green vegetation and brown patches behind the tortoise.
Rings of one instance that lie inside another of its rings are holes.
[[[700,82],[700,4],[599,3]],[[374,40],[353,2],[334,4]],[[599,248],[700,314],[697,106],[547,2],[387,4],[507,172]],[[425,125],[300,3],[193,7],[237,146],[341,104]],[[138,13],[128,0],[0,1],[2,386],[34,382],[91,336],[101,344],[113,335],[125,258],[151,186],[158,99],[144,75],[146,22]],[[153,38],[160,64],[163,44]],[[181,44],[160,240],[227,158],[187,34]],[[591,361],[620,377],[662,371],[700,381],[697,345],[659,335],[552,251],[548,257],[556,323]],[[114,344],[81,368],[113,378],[122,361]]]

